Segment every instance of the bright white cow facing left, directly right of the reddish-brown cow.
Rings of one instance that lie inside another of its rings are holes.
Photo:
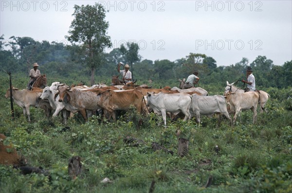
[[[187,93],[147,93],[147,105],[153,109],[154,113],[162,115],[164,125],[166,125],[166,112],[179,113],[182,111],[185,116],[183,121],[191,119],[189,112],[191,104],[191,95]]]

